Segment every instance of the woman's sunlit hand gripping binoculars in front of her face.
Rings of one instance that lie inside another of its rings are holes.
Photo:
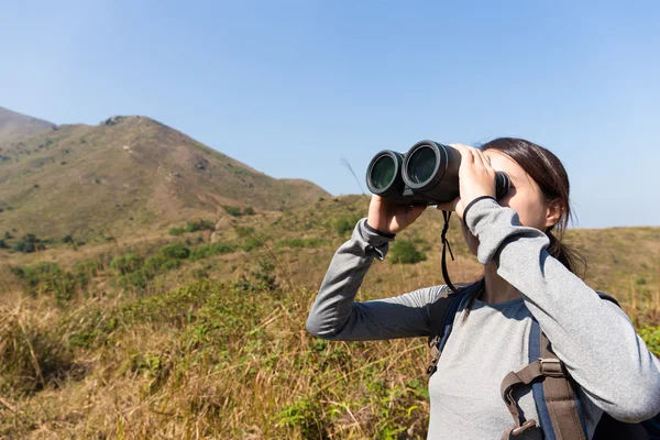
[[[437,209],[455,211],[459,219],[463,220],[465,207],[472,200],[481,196],[495,198],[495,169],[491,166],[491,160],[481,150],[462,144],[449,144],[449,146],[461,153],[460,196],[452,201],[439,204]]]

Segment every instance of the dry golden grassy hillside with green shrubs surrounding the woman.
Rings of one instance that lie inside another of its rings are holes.
[[[153,229],[0,250],[0,437],[426,438],[426,341],[326,342],[305,330],[367,207],[318,198],[232,217],[213,243],[210,230]],[[426,260],[394,264],[391,250],[358,299],[442,284],[440,231],[429,209],[396,240]],[[449,237],[452,279],[473,280],[482,266],[455,219]],[[660,354],[660,228],[575,230],[568,241],[591,255],[586,283],[614,295]]]

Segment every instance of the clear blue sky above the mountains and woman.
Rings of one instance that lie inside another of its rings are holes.
[[[579,228],[660,226],[658,1],[4,1],[0,106],[152,117],[274,177],[380,150],[554,152]],[[364,188],[366,190],[366,188]]]

